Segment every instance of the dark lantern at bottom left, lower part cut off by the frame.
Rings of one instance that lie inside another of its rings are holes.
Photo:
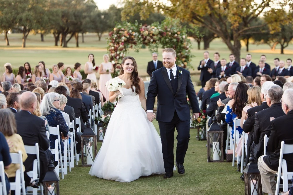
[[[59,176],[55,172],[53,161],[50,160],[48,171],[43,179],[45,195],[59,195]]]

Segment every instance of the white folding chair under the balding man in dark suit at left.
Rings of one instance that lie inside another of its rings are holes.
[[[33,161],[33,170],[27,172],[28,176],[35,179],[39,179],[38,174],[40,175],[40,154],[39,154],[39,144],[36,143],[35,146],[24,146],[27,154],[34,154],[37,156],[37,159]],[[40,193],[43,194],[43,186],[40,183]],[[33,195],[38,194],[38,189],[33,187],[27,187],[28,191],[33,191]]]

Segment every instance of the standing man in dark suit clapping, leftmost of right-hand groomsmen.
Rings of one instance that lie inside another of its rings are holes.
[[[197,70],[200,70],[200,81],[202,88],[205,87],[205,83],[212,78],[212,75],[209,73],[208,69],[211,68],[211,66],[214,66],[214,61],[209,59],[209,52],[205,51],[203,53],[204,59],[200,61],[200,65],[197,67]]]

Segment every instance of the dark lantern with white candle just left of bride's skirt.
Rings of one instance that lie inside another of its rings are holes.
[[[91,166],[93,160],[97,155],[97,135],[91,128],[91,123],[88,120],[86,122],[86,128],[83,134],[81,134],[81,148],[84,148],[84,152],[81,153],[82,166]],[[94,148],[94,155],[93,155]]]

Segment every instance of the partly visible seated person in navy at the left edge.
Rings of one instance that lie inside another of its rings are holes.
[[[11,164],[11,157],[9,153],[9,146],[5,139],[5,136],[0,132],[0,161],[3,161],[4,170],[9,169]],[[6,174],[4,174],[5,183],[6,183],[6,193],[10,194],[10,182]],[[0,182],[1,182],[0,178]]]

